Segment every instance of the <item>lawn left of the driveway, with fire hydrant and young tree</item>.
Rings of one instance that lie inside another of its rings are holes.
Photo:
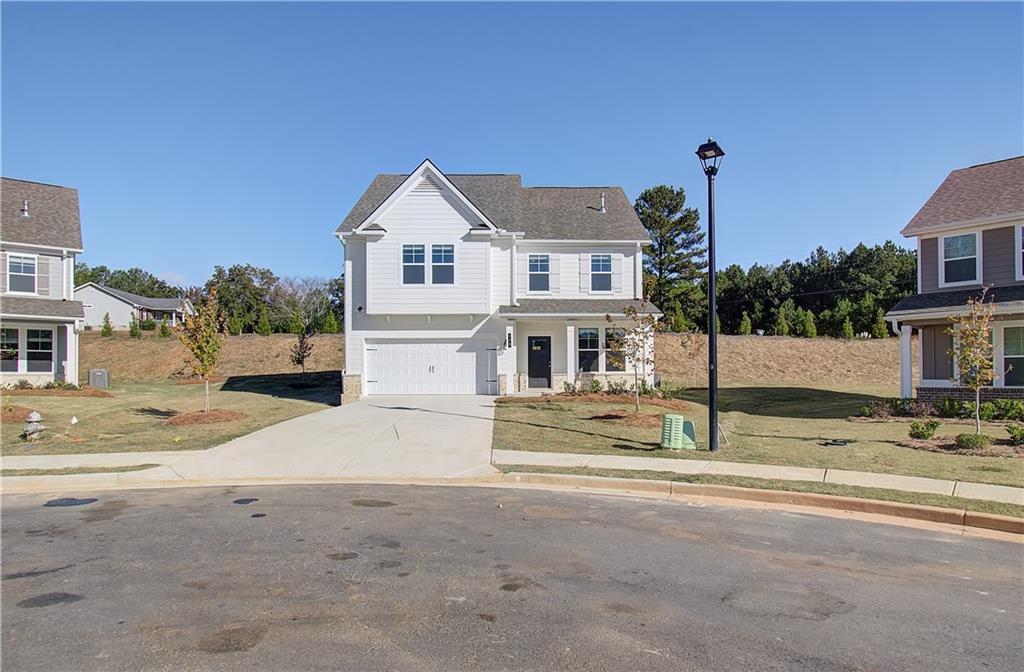
[[[231,422],[166,425],[176,413],[203,408],[203,386],[173,382],[115,385],[113,397],[4,394],[4,403],[39,411],[46,436],[33,444],[18,434],[22,423],[5,422],[4,455],[194,451],[217,446],[282,420],[338,403],[340,377],[326,374],[237,376],[210,386],[210,406],[245,414]],[[79,423],[66,437],[72,416]]]

